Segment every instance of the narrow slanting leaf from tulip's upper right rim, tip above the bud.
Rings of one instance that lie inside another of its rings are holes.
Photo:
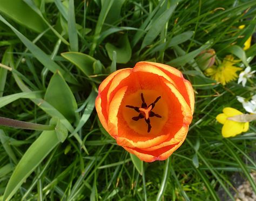
[[[169,61],[167,63],[167,65],[183,66],[186,63],[188,63],[189,61],[191,61],[192,59],[194,59],[196,56],[198,56],[198,54],[201,51],[206,50],[210,46],[211,46],[211,43],[204,44],[201,47],[199,47],[197,50],[194,50],[194,51],[192,51],[190,53],[185,54],[184,56],[181,56],[181,57],[178,57],[176,59],[173,59],[173,60]]]

